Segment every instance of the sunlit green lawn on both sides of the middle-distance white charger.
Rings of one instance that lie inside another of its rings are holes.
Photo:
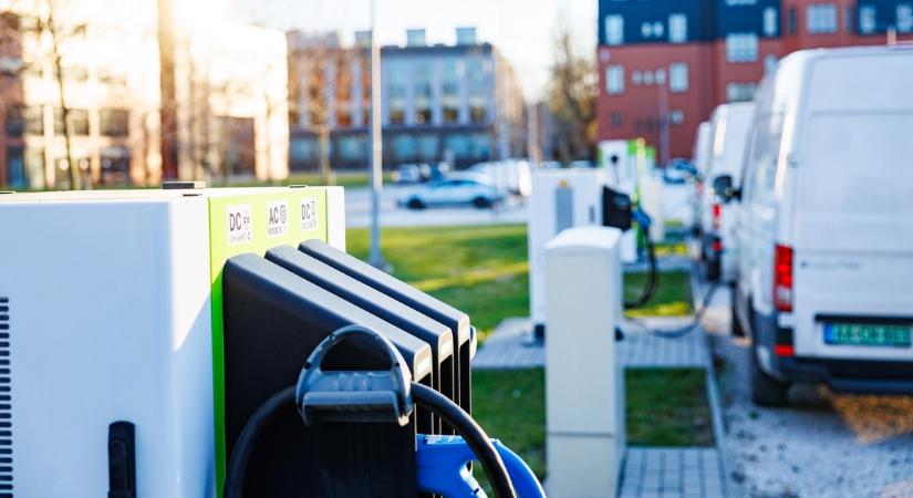
[[[367,229],[347,231],[349,252],[367,257]],[[525,225],[386,228],[381,236],[393,274],[465,311],[485,340],[501,320],[529,315],[529,263]],[[636,294],[646,276],[627,273],[625,289]],[[686,272],[660,277],[647,305],[632,315],[691,313]]]

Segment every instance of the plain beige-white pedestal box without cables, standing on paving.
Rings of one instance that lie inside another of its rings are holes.
[[[546,247],[549,494],[614,497],[624,450],[621,231],[564,230]]]

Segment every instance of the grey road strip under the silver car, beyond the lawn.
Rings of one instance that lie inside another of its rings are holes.
[[[384,185],[381,195],[382,227],[429,227],[455,225],[522,224],[527,221],[527,207],[513,199],[495,209],[474,207],[428,208],[411,210],[396,206],[396,199],[416,186]],[[345,226],[361,228],[371,225],[371,190],[345,189]]]

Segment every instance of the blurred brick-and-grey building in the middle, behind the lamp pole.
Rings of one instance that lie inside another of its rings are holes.
[[[513,70],[471,28],[455,44],[409,30],[383,46],[384,165],[446,160],[456,166],[526,155],[526,110]],[[370,33],[352,46],[336,34],[289,33],[291,168],[314,169],[321,143],[334,167],[370,163]],[[321,141],[321,133],[328,139]]]

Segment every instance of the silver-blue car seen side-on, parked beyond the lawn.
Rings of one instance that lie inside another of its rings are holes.
[[[429,206],[475,206],[489,208],[504,199],[491,180],[478,174],[453,174],[438,181],[404,195],[398,199],[402,207],[424,209]]]

